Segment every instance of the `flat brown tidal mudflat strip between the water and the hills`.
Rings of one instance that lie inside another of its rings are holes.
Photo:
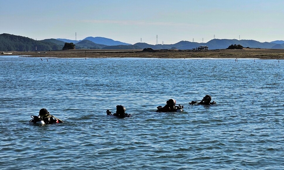
[[[0,55],[57,58],[258,58],[284,59],[284,49],[244,48],[241,50],[61,50],[61,51],[10,51]]]

